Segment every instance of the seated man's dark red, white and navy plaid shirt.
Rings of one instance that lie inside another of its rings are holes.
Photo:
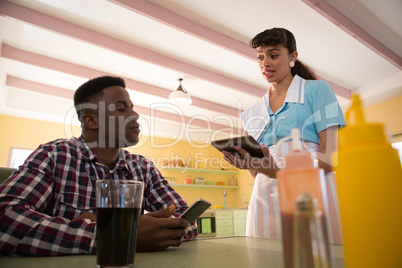
[[[95,182],[107,176],[96,162],[82,137],[39,146],[0,186],[0,255],[95,254],[96,223],[71,220],[95,213]],[[121,150],[111,175],[144,182],[143,210],[174,204],[177,217],[188,208],[143,156]],[[197,235],[195,223],[188,230],[187,238]]]

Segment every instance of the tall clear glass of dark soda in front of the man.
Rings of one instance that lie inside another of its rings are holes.
[[[96,182],[96,267],[134,267],[144,183]]]

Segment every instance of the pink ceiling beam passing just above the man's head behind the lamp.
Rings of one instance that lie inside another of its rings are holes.
[[[50,58],[47,56],[35,54],[29,51],[21,50],[18,48],[14,48],[7,44],[2,45],[1,56],[4,58],[16,60],[30,65],[39,66],[42,68],[55,70],[58,72],[78,77],[84,77],[87,79],[91,79],[98,76],[111,75],[110,73],[101,72],[99,70],[88,68],[82,65],[73,64],[62,60]],[[127,87],[133,90],[134,92],[135,91],[141,92],[144,94],[158,96],[165,99],[167,99],[169,94],[172,92],[168,89],[142,83],[139,81],[135,81],[133,79],[125,78],[124,80],[126,81]],[[215,102],[206,101],[196,97],[191,98],[193,100],[192,104],[193,106],[199,107],[201,109],[206,109],[208,111],[215,111],[217,113],[230,115],[236,118],[239,117],[241,112],[236,108],[232,108]]]

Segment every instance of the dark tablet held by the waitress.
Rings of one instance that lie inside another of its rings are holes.
[[[264,153],[261,145],[252,136],[240,136],[235,138],[212,141],[211,144],[219,151],[227,151],[232,154],[239,154],[234,148],[239,146],[249,152],[251,156],[262,158]]]

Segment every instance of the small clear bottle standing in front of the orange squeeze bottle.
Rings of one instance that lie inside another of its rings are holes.
[[[293,219],[293,268],[328,268],[330,260],[326,252],[322,213],[317,210],[317,200],[308,193],[297,198]]]

